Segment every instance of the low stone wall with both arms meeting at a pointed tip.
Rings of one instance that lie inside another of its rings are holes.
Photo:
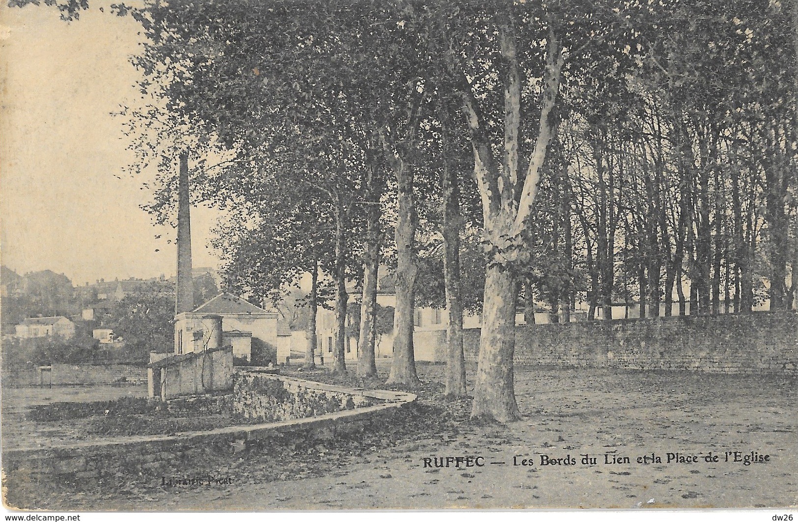
[[[357,433],[366,425],[389,422],[399,409],[416,400],[413,393],[385,390],[349,390],[302,379],[260,375],[260,378],[278,378],[280,386],[301,386],[304,390],[330,393],[338,397],[346,393],[351,401],[364,404],[357,409],[342,409],[318,417],[288,421],[266,422],[255,425],[235,425],[201,432],[174,433],[132,437],[105,437],[95,441],[56,443],[48,446],[41,441],[28,441],[30,446],[9,449],[4,445],[2,471],[6,484],[13,481],[38,483],[45,480],[59,482],[116,480],[119,473],[140,474],[160,483],[160,477],[185,473],[202,462],[203,455],[238,453],[248,448],[271,447],[273,441],[303,439],[326,441],[346,433]],[[242,382],[247,382],[245,379]],[[286,384],[283,384],[286,383]],[[275,385],[276,386],[276,385]],[[285,388],[283,388],[285,389]],[[359,397],[359,398],[358,398]],[[219,396],[223,407],[230,395]],[[190,399],[169,401],[180,408]],[[374,405],[365,405],[373,401]],[[211,405],[211,407],[215,407]],[[283,442],[284,443],[284,442]],[[38,444],[38,445],[37,445]]]

